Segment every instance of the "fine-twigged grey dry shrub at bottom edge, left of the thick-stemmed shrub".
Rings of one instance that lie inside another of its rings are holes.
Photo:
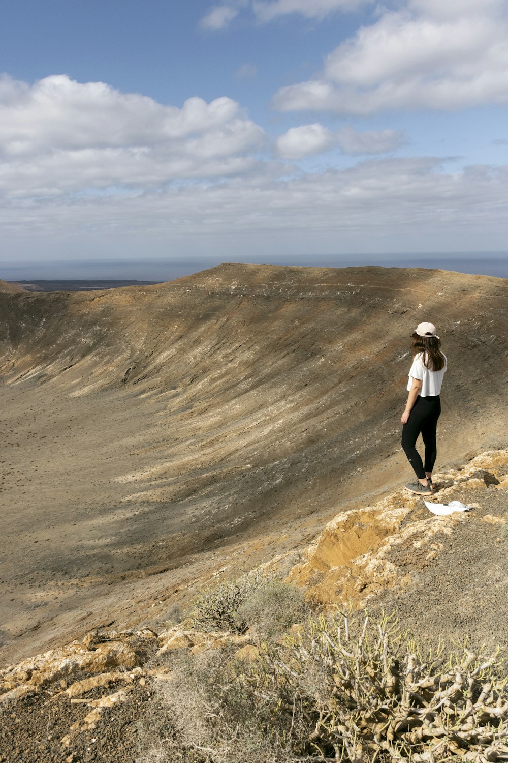
[[[270,729],[270,699],[241,681],[246,667],[231,650],[174,653],[168,662],[171,681],[156,684],[155,722],[152,716],[152,732],[145,732],[152,744],[138,763],[292,761],[283,735]]]

